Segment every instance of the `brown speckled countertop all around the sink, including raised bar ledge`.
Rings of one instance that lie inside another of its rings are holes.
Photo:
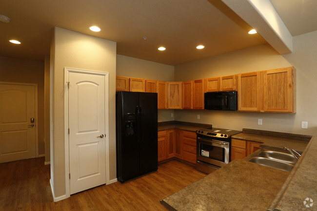
[[[273,132],[275,138],[250,132],[243,129],[234,137],[263,142],[265,148],[279,151],[284,146],[304,151],[292,172],[234,160],[161,204],[170,211],[317,211],[317,131],[313,137]],[[309,200],[306,206],[305,199]]]

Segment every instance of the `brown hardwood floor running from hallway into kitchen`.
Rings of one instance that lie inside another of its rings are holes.
[[[159,200],[204,177],[177,160],[123,184],[116,182],[53,202],[44,158],[0,164],[0,211],[164,211]]]

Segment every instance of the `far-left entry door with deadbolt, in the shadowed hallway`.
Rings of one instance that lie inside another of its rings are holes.
[[[35,85],[0,84],[0,163],[36,156],[31,118],[35,118]]]

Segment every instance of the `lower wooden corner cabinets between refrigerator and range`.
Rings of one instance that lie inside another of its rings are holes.
[[[158,132],[158,162],[177,157],[196,163],[196,133],[178,129]]]

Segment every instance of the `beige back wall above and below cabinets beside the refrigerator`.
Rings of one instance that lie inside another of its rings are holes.
[[[174,81],[174,66],[117,55],[117,76]],[[174,110],[158,110],[158,121],[172,121]]]

